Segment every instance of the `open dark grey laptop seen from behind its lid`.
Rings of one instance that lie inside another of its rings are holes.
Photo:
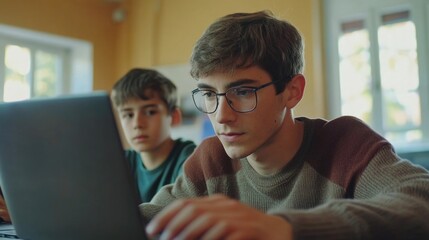
[[[0,186],[19,238],[147,239],[105,92],[0,103]]]

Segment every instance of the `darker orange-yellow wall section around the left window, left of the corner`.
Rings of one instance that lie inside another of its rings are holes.
[[[116,79],[114,4],[103,0],[0,0],[0,24],[63,35],[93,44],[94,89]]]

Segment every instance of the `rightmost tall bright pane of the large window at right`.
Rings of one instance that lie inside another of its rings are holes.
[[[414,23],[383,25],[378,29],[378,39],[386,136],[391,141],[419,140],[421,103]]]

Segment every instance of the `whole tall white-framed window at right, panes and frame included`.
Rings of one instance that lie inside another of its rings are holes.
[[[359,117],[399,152],[427,151],[429,3],[324,3],[330,117]]]

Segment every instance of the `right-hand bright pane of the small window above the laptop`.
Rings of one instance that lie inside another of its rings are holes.
[[[57,93],[60,76],[60,57],[56,54],[36,51],[34,96],[49,97]]]

